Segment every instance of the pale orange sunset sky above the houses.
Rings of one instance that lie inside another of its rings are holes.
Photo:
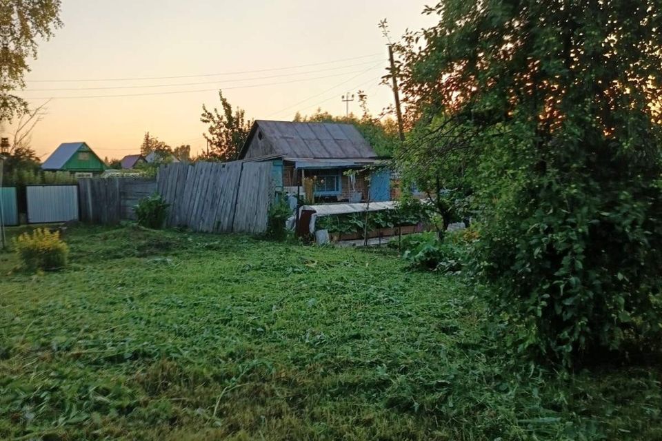
[[[377,25],[388,19],[392,39],[432,25],[428,3],[63,0],[64,26],[40,43],[21,94],[32,106],[50,99],[32,147],[44,160],[60,143],[86,141],[121,158],[150,132],[196,154],[201,107],[219,105],[219,88],[249,119],[291,121],[318,107],[342,115],[341,95],[358,90],[379,113],[393,96],[380,85],[388,50]]]

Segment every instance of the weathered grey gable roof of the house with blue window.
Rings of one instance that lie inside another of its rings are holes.
[[[268,154],[293,158],[376,158],[357,127],[343,123],[300,123],[257,120],[239,159],[245,158],[254,137],[269,144]]]

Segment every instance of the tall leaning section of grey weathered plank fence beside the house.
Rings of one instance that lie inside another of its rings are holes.
[[[162,165],[157,191],[170,203],[169,227],[259,234],[273,198],[271,163]]]

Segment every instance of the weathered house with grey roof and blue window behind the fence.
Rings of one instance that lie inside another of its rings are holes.
[[[390,172],[352,124],[255,121],[239,160],[270,161],[277,188],[304,193],[312,178],[316,201],[390,201]],[[352,172],[353,171],[353,172]]]

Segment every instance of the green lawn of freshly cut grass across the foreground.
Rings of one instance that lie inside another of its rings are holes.
[[[0,439],[662,439],[659,367],[532,367],[488,291],[388,252],[66,240],[66,271],[0,254]]]

